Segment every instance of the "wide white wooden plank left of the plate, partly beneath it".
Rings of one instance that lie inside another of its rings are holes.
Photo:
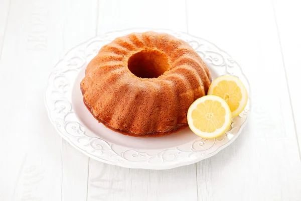
[[[95,5],[12,1],[0,61],[2,200],[86,200],[88,157],[56,133],[44,91],[65,52],[95,35]]]

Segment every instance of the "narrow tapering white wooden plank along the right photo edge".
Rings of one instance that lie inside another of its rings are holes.
[[[273,5],[289,87],[294,125],[301,153],[301,105],[298,93],[300,91],[300,83],[298,81],[301,74],[301,26],[299,26],[301,2],[276,0]]]

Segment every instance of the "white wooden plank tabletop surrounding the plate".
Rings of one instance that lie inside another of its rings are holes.
[[[0,0],[0,200],[301,200],[301,4],[298,0]],[[96,35],[165,28],[228,52],[251,85],[241,136],[171,170],[89,159],[51,125],[54,65]]]

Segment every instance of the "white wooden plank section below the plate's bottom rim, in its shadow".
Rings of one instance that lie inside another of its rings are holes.
[[[197,200],[195,164],[128,169],[90,159],[88,200]]]

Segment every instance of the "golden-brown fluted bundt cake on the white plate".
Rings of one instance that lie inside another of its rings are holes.
[[[210,72],[190,45],[169,34],[132,33],[103,46],[80,87],[88,110],[124,135],[158,137],[187,127]]]

